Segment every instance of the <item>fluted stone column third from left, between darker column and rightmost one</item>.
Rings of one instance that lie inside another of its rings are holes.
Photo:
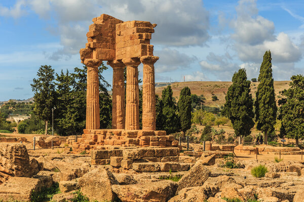
[[[138,89],[138,65],[140,61],[135,59],[123,59],[127,66],[126,89],[126,130],[139,130],[139,89]]]

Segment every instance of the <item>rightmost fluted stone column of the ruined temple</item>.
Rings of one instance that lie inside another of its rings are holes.
[[[142,79],[142,130],[156,130],[155,111],[155,75],[154,63],[159,59],[156,56],[143,56]]]

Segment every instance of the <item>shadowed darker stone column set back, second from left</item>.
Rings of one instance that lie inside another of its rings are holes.
[[[125,65],[118,61],[107,62],[113,68],[112,129],[125,129]]]

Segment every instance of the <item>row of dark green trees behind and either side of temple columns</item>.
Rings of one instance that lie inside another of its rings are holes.
[[[100,128],[111,128],[112,102],[107,91],[110,85],[102,76],[107,67],[101,64],[98,69]],[[73,73],[61,70],[60,74],[55,73],[51,66],[41,66],[31,87],[34,92],[34,108],[31,118],[18,125],[20,133],[42,133],[44,131],[45,134],[50,134],[50,125],[53,121],[54,131],[59,135],[83,133],[86,126],[86,66],[74,68]],[[172,95],[171,86],[163,90],[161,98],[156,95],[156,127],[157,130],[165,130],[168,134],[186,131],[191,127],[190,89],[185,87],[181,90],[177,105],[175,105]],[[139,92],[140,122],[142,119],[141,104],[142,90]]]

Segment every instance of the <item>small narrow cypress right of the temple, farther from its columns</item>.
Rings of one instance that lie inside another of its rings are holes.
[[[183,132],[191,128],[191,91],[186,86],[180,91],[177,108],[180,128]]]

